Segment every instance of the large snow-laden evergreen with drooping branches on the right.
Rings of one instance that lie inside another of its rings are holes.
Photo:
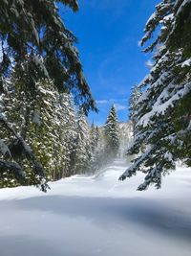
[[[163,0],[150,17],[142,38],[144,45],[159,30],[159,35],[146,47],[155,50],[150,74],[139,83],[143,91],[138,99],[136,137],[129,153],[138,153],[133,165],[120,176],[125,179],[142,171],[145,181],[138,190],[150,184],[161,185],[162,175],[176,168],[176,161],[191,165],[191,71],[189,41],[190,1]],[[184,18],[185,13],[185,18]]]

